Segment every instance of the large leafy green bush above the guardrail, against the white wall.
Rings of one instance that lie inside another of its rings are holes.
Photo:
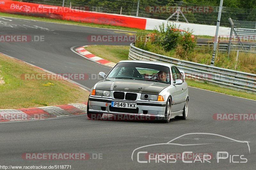
[[[180,30],[174,24],[161,24],[153,33],[140,31],[136,34],[135,46],[158,54],[175,54],[186,58],[194,51],[196,40],[190,30]],[[170,56],[170,55],[169,55]]]

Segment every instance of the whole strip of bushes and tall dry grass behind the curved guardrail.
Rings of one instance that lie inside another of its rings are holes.
[[[140,31],[137,33],[138,39],[135,46],[138,48],[165,55],[173,58],[188,60],[196,63],[210,65],[212,59],[212,46],[201,46],[194,49],[196,39],[192,39],[192,32],[180,32],[175,25],[159,25],[158,30],[153,33]],[[227,53],[219,51],[216,55],[214,66],[228,68],[256,74],[256,54],[239,53],[236,62],[236,51],[231,51],[229,57]]]

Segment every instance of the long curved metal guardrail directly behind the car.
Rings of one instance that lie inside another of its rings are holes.
[[[134,43],[130,44],[129,59],[172,63],[175,64],[179,69],[184,70],[187,77],[208,81],[233,89],[256,93],[256,74],[199,64],[152,53],[135,47]]]

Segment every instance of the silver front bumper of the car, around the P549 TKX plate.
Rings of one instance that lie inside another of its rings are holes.
[[[137,108],[135,109],[122,109],[122,111],[113,111],[111,108],[111,102],[125,102],[125,103],[136,103]],[[92,97],[88,99],[89,111],[95,113],[106,113],[116,115],[133,115],[133,116],[147,116],[147,117],[164,117],[166,102],[157,101],[124,101],[118,99]],[[87,106],[88,107],[88,106]],[[112,111],[110,111],[112,110]]]

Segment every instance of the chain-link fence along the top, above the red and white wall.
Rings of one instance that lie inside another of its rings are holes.
[[[49,4],[62,6],[63,0],[22,0],[23,2]],[[139,5],[138,5],[139,4]],[[180,7],[180,11],[170,18],[170,20],[205,25],[216,25],[219,6],[209,6],[202,4],[191,4],[182,1],[171,0],[64,0],[64,6],[77,8],[86,11],[97,11],[113,14],[123,14],[139,17],[164,19],[169,18]],[[139,7],[139,8],[137,8]],[[202,10],[203,9],[203,10]],[[169,10],[169,11],[168,11]],[[182,15],[183,14],[183,15]],[[240,9],[223,7],[221,16],[221,26],[230,26],[228,18],[234,20],[251,21],[256,18],[256,9]],[[185,19],[186,18],[186,19]],[[239,23],[247,25],[248,23]],[[255,22],[250,27],[255,28]],[[248,25],[247,25],[248,26]]]

